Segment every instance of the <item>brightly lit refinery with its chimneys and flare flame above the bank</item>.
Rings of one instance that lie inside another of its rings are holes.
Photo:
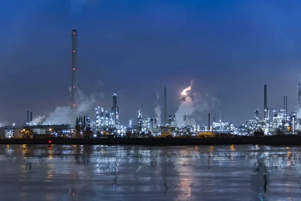
[[[287,111],[287,95],[283,96],[283,108],[268,107],[267,103],[267,85],[263,88],[263,116],[260,117],[259,109],[254,110],[254,118],[246,121],[246,124],[234,126],[230,122],[224,122],[221,118],[221,108],[219,109],[219,121],[216,120],[216,115],[213,121],[210,120],[208,126],[200,126],[194,123],[192,125],[186,122],[184,116],[184,123],[176,125],[176,116],[167,114],[167,88],[164,87],[164,107],[163,107],[163,121],[160,125],[155,117],[143,117],[143,103],[142,107],[138,109],[136,121],[129,120],[127,126],[119,123],[119,107],[117,106],[117,93],[113,93],[113,104],[109,112],[104,108],[96,107],[96,117],[90,124],[88,116],[76,117],[76,108],[78,106],[78,83],[77,83],[77,30],[72,30],[71,33],[71,108],[73,110],[75,125],[47,125],[43,126],[40,123],[33,123],[33,113],[27,111],[27,121],[25,127],[29,127],[36,135],[53,135],[55,137],[83,137],[84,132],[86,136],[90,137],[185,137],[185,136],[210,136],[214,133],[219,134],[233,134],[233,135],[253,135],[254,132],[263,132],[264,135],[279,135],[279,134],[301,134],[301,119],[297,117],[297,112],[293,111],[290,114]],[[189,97],[187,91],[191,90],[191,85],[183,90],[181,93],[181,104],[188,103]],[[301,84],[298,84],[298,111],[301,111]],[[282,107],[282,106],[281,106]],[[144,115],[146,116],[146,115]],[[212,124],[211,124],[212,123]],[[22,127],[2,126],[0,127],[0,138],[20,137]],[[76,133],[76,135],[75,135]],[[82,135],[78,135],[82,134]]]

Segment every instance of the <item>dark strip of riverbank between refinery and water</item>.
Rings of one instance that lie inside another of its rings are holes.
[[[96,138],[96,139],[1,139],[0,144],[68,144],[68,145],[301,145],[301,136],[265,136],[235,138]]]

